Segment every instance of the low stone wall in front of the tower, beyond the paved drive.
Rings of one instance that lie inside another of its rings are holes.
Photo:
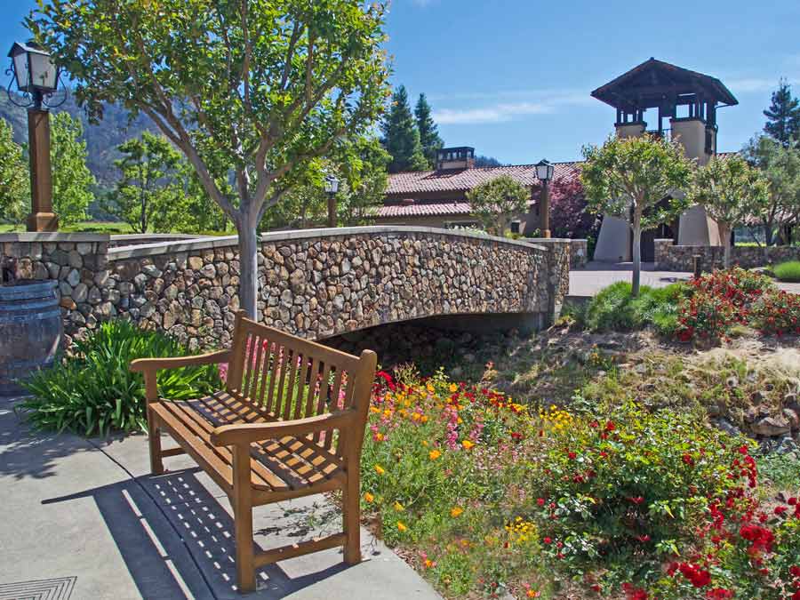
[[[764,256],[766,251],[766,256]],[[656,268],[666,271],[692,271],[693,257],[700,255],[703,270],[723,268],[722,246],[680,246],[671,239],[655,241]],[[786,260],[800,260],[800,247],[796,246],[734,246],[731,249],[732,264],[742,268],[766,267]]]

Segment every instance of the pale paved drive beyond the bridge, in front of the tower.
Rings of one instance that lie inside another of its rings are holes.
[[[594,296],[605,286],[617,281],[630,281],[631,263],[629,262],[590,262],[584,268],[570,271],[570,295]],[[664,287],[676,281],[686,281],[692,273],[676,271],[657,271],[651,263],[642,265],[642,284],[651,287]],[[784,284],[776,282],[778,287],[787,292],[800,293],[800,284]]]

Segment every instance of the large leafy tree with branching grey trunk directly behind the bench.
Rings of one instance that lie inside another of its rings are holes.
[[[239,302],[256,317],[264,212],[309,161],[382,113],[385,10],[360,0],[44,0],[27,24],[92,119],[104,100],[121,102],[184,153],[236,226]]]

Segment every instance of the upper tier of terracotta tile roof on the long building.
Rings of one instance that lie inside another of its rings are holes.
[[[555,163],[555,179],[575,179],[580,162]],[[536,183],[536,168],[532,164],[512,164],[500,167],[476,167],[454,171],[416,171],[389,175],[387,196],[424,194],[426,192],[466,192],[500,175],[510,175],[523,185]]]

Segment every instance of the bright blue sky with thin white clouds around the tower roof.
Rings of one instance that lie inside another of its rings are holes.
[[[34,4],[0,0],[3,48]],[[796,0],[393,0],[387,29],[393,83],[428,94],[445,142],[521,164],[602,142],[614,110],[589,92],[651,56],[728,86],[718,147],[741,148],[781,76],[800,95],[798,23]]]

